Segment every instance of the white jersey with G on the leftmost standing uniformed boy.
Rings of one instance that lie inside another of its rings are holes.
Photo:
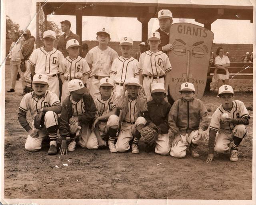
[[[53,48],[52,51],[47,52],[44,46],[35,49],[28,62],[35,66],[35,73],[43,73],[52,76],[58,73],[60,62],[64,60],[62,53]]]

